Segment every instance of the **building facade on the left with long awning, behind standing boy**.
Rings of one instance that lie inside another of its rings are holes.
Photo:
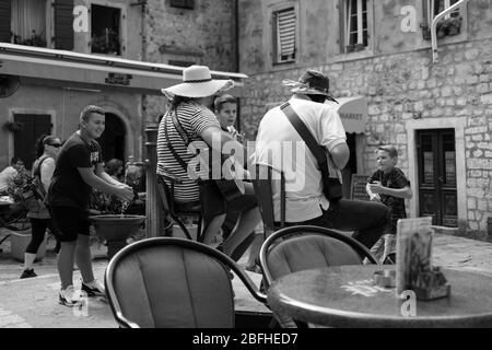
[[[236,71],[235,9],[229,0],[0,1],[0,126],[25,126],[0,129],[0,168],[14,155],[31,166],[34,140],[68,138],[90,104],[107,110],[105,160],[144,159],[144,129],[165,109],[161,89],[181,81],[183,66]]]

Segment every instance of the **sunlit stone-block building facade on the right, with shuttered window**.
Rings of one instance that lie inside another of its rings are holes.
[[[349,49],[344,33],[348,2],[366,7],[368,35],[360,36],[363,42],[355,50]],[[272,33],[279,13],[285,10],[295,16],[295,57],[279,62],[279,37]],[[243,127],[254,139],[265,112],[289,96],[281,85],[283,79],[297,79],[306,68],[324,71],[335,96],[367,98],[368,121],[365,132],[356,136],[360,152],[354,172],[371,174],[377,147],[396,145],[399,166],[412,184],[413,198],[407,202],[410,217],[432,213],[437,208],[432,206],[440,201],[442,218],[434,223],[457,228],[456,234],[488,240],[492,5],[478,0],[459,8],[460,33],[437,39],[437,61],[431,40],[423,36],[424,25],[420,26],[429,13],[425,1],[417,0],[239,1],[239,71],[250,77],[242,98]],[[441,158],[437,149],[443,151]],[[450,184],[436,176],[440,168],[454,177]],[[427,191],[433,179],[441,184]],[[447,219],[446,211],[450,213]]]

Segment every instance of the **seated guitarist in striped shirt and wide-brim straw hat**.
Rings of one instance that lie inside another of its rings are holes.
[[[191,66],[183,70],[183,83],[162,89],[169,100],[169,108],[159,125],[157,174],[179,178],[179,183],[174,183],[176,202],[199,203],[200,188],[197,178],[207,178],[209,175],[208,170],[200,167],[201,171],[197,171],[198,164],[189,164],[191,161],[197,162],[197,155],[188,152],[191,142],[196,149],[221,152],[227,143],[229,149],[233,148],[236,154],[244,152],[243,145],[234,140],[231,133],[222,130],[215,115],[208,108],[215,95],[233,86],[232,80],[212,79],[208,67]],[[165,177],[164,179],[166,180]],[[251,233],[254,234],[256,225],[261,221],[253,184],[241,184],[244,186],[243,194],[238,192],[234,199],[225,199],[220,191],[214,192],[216,198],[201,198],[207,228],[203,238],[206,244],[211,243],[218,234],[226,211],[242,212],[233,232],[221,246],[221,249],[235,260],[246,250],[247,244],[243,243],[253,237]]]

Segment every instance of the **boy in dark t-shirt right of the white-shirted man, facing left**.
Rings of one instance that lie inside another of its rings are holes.
[[[366,191],[371,200],[380,201],[390,210],[388,232],[371,249],[380,261],[384,261],[395,252],[397,221],[407,218],[405,199],[412,198],[412,190],[403,172],[396,167],[397,149],[393,145],[382,145],[376,150],[376,154],[378,170],[368,177]]]

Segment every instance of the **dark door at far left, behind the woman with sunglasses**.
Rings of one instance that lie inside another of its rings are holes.
[[[20,158],[27,170],[36,160],[36,140],[42,135],[51,133],[51,116],[42,114],[14,114],[14,121],[22,122],[22,130],[14,132],[14,155]]]

